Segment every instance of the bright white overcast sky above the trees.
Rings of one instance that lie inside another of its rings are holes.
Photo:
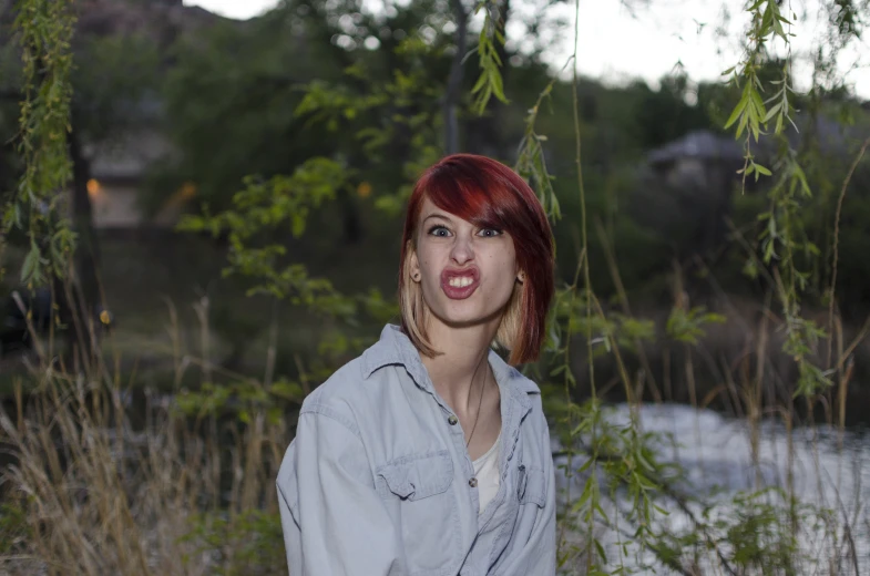
[[[213,12],[247,19],[273,8],[278,0],[185,0]],[[800,23],[794,51],[809,51],[822,30],[819,0],[788,0]],[[577,62],[582,74],[605,82],[620,83],[642,78],[652,86],[677,66],[690,79],[715,80],[723,71],[739,62],[740,39],[747,19],[740,12],[743,0],[580,0]],[[634,6],[633,9],[627,6]],[[729,19],[723,24],[723,7],[730,7]],[[551,51],[550,63],[561,69],[572,53],[573,2],[564,8],[571,25],[566,38]],[[806,18],[801,18],[805,17]],[[717,28],[724,34],[717,34]],[[510,38],[510,28],[509,28]],[[870,100],[870,42],[863,40],[841,52],[838,68],[854,92]],[[810,69],[797,64],[796,88],[809,85]]]

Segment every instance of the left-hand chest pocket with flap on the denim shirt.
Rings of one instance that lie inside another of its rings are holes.
[[[447,450],[403,456],[376,470],[376,487],[401,532],[412,576],[456,574],[461,562],[453,461]]]

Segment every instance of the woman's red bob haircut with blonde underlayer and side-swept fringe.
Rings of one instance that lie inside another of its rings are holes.
[[[532,188],[511,168],[473,154],[453,154],[427,169],[408,203],[399,268],[402,331],[422,353],[434,357],[426,335],[422,288],[410,276],[423,199],[478,227],[506,232],[513,239],[516,265],[525,272],[514,285],[495,336],[510,350],[512,366],[538,359],[544,341],[547,309],[553,299],[553,236]]]

